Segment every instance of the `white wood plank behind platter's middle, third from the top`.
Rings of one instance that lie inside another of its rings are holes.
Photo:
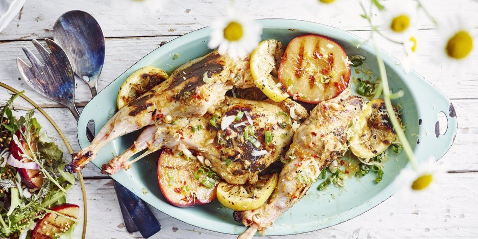
[[[478,100],[455,100],[453,102],[459,120],[458,134],[450,151],[441,159],[450,163],[449,170],[478,170]],[[64,108],[45,109],[68,138],[74,150],[79,150],[76,122]],[[93,164],[83,170],[84,176],[105,176]]]

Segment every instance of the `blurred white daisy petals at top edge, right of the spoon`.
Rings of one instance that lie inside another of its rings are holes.
[[[114,7],[133,16],[154,14],[164,9],[164,0],[116,0]]]

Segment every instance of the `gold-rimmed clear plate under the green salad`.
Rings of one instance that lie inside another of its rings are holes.
[[[10,99],[11,94],[17,94],[18,92],[19,91],[13,89],[12,87],[0,82],[0,104],[3,105],[3,103]],[[33,118],[37,119],[39,125],[41,126],[41,131],[44,130],[44,132],[46,132],[48,135],[49,140],[52,140],[63,152],[63,160],[66,162],[71,161],[71,153],[73,152],[71,145],[67,141],[65,135],[58,125],[42,108],[40,108],[35,102],[30,100],[24,94],[19,95],[19,97],[13,101],[12,108],[14,109],[12,114],[16,118],[25,116],[28,110],[34,109]],[[75,239],[84,239],[87,224],[86,190],[81,172],[75,175],[75,178],[76,180],[74,185],[66,193],[66,202],[79,206],[78,223],[76,224],[71,237]]]

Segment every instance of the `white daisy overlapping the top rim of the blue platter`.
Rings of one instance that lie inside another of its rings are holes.
[[[257,47],[262,26],[245,14],[237,15],[230,10],[227,17],[216,20],[213,25],[208,47],[218,47],[221,55],[233,58],[244,57]]]

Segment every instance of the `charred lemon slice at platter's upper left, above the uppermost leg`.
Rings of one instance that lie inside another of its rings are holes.
[[[119,88],[118,110],[168,78],[169,76],[166,72],[154,66],[145,66],[135,71]]]

